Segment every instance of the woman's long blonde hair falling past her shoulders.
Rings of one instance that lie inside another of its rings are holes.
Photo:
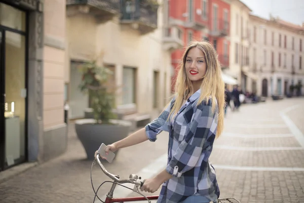
[[[197,47],[205,55],[206,61],[206,73],[204,78],[202,79],[201,84],[201,95],[198,100],[198,104],[200,105],[202,102],[206,102],[208,104],[210,97],[212,98],[212,111],[215,112],[216,109],[216,101],[218,105],[218,124],[216,131],[216,138],[220,136],[223,131],[223,123],[224,123],[224,82],[221,77],[221,65],[217,58],[217,53],[213,46],[207,42],[199,42],[194,41],[186,47],[184,54],[182,56],[182,61],[179,64],[179,71],[176,78],[175,83],[175,102],[170,111],[169,117],[171,115],[177,114],[179,109],[182,106],[183,100],[186,99],[187,94],[194,93],[192,82],[187,78],[185,72],[185,62],[186,57],[192,48]]]

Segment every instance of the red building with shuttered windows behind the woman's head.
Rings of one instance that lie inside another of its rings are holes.
[[[170,27],[177,27],[178,37],[186,46],[192,40],[208,40],[215,47],[222,68],[229,66],[230,5],[222,0],[168,0]],[[172,88],[183,49],[172,52],[175,70]],[[172,89],[173,90],[173,89]]]

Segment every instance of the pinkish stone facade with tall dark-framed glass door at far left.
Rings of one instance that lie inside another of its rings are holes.
[[[55,14],[56,12],[56,14]],[[0,171],[66,149],[65,1],[0,1]]]

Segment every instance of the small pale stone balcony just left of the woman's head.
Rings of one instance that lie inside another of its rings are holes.
[[[167,51],[174,51],[184,46],[182,33],[177,27],[163,28],[163,47]]]

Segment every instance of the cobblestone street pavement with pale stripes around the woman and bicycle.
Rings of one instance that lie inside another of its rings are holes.
[[[284,121],[280,112],[286,108],[290,109],[284,115],[300,131]],[[220,197],[234,196],[242,203],[304,202],[304,143],[299,137],[304,134],[303,120],[304,98],[268,99],[229,111],[210,157]],[[128,177],[166,154],[167,141],[162,132],[156,143],[122,149],[115,161],[104,165],[109,172]],[[71,124],[67,152],[1,183],[0,202],[93,202],[91,163]],[[92,177],[95,188],[109,180],[97,166]],[[102,186],[98,194],[106,194],[109,187]]]

